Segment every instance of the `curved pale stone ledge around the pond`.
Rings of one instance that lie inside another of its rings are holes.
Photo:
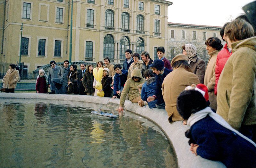
[[[112,100],[107,97],[95,97],[87,95],[57,95],[57,94],[36,94],[36,93],[0,93],[0,98],[12,99],[44,99],[44,100],[62,100],[84,103],[96,103],[111,107],[119,107],[119,99]],[[125,101],[124,109],[134,112],[142,117],[148,118],[154,122],[164,132],[176,153],[178,165],[181,168],[224,168],[221,162],[204,159],[195,156],[189,151],[188,139],[184,133],[188,126],[183,126],[181,121],[170,124],[167,120],[167,113],[163,109],[149,109],[148,106],[139,107],[130,101]]]

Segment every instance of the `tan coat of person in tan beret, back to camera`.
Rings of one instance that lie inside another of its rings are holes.
[[[169,122],[183,120],[176,108],[177,98],[187,86],[193,83],[196,85],[200,83],[196,74],[181,67],[174,69],[164,78],[162,94]]]

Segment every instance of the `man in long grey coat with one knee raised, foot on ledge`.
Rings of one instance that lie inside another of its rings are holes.
[[[53,78],[51,81],[52,87],[56,87],[56,92],[57,94],[67,94],[68,92],[68,72],[69,72],[69,67],[68,67],[69,61],[65,60],[64,61],[64,66],[60,68],[60,71],[58,73],[58,78]],[[52,94],[52,92],[49,92],[49,94]]]

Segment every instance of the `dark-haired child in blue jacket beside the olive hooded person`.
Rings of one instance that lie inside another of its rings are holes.
[[[140,96],[143,101],[147,101],[147,98],[154,95],[156,90],[156,77],[152,69],[147,69],[143,75],[146,77],[146,82],[142,85]],[[156,108],[156,102],[157,100],[148,102],[148,107]]]

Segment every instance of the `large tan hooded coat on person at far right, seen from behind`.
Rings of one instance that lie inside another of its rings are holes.
[[[238,130],[241,125],[256,124],[255,92],[256,37],[232,43],[217,85],[217,114]]]

